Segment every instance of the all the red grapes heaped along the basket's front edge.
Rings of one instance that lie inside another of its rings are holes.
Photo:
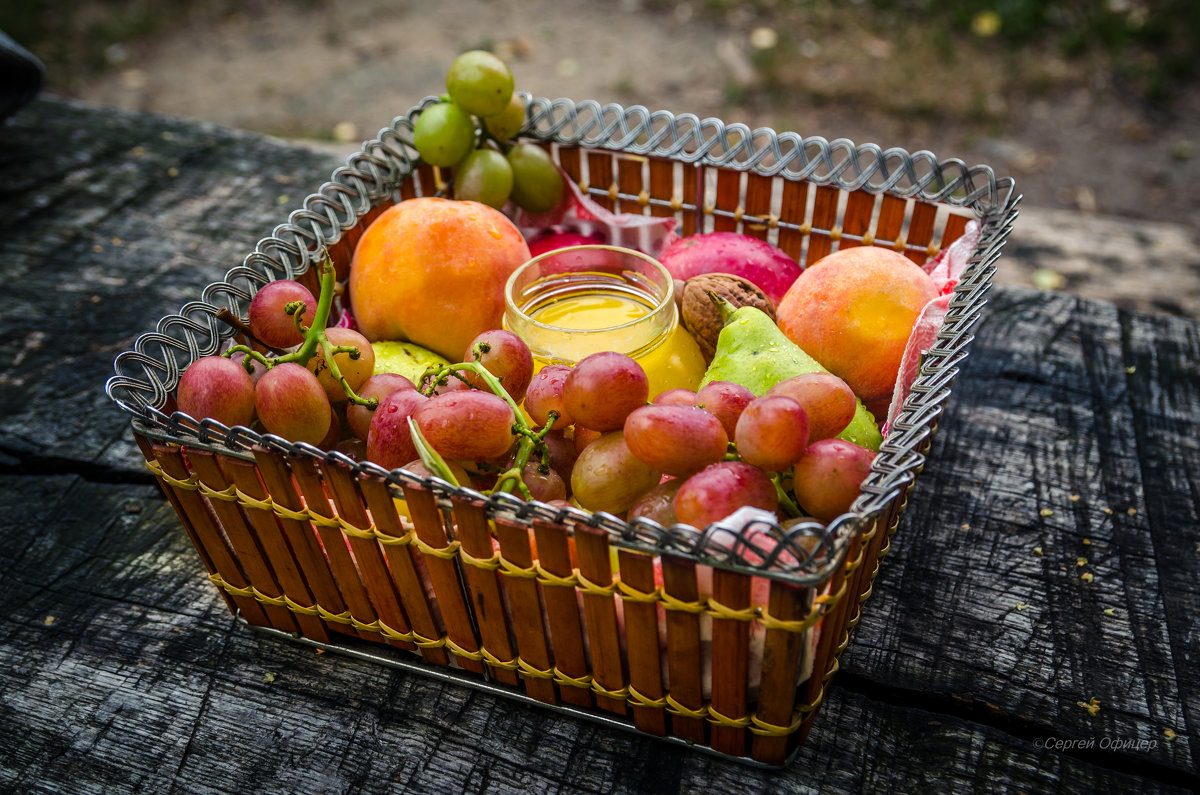
[[[870,450],[834,438],[856,402],[829,373],[762,396],[718,381],[649,400],[646,372],[628,355],[535,371],[518,336],[492,329],[414,383],[373,372],[370,342],[325,329],[328,310],[296,282],[264,286],[250,330],[290,349],[268,358],[235,346],[198,359],[180,381],[179,408],[230,426],[257,420],[389,470],[662,525],[704,527],[744,506],[829,521],[870,470]]]

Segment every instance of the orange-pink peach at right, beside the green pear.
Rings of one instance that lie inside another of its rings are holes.
[[[868,406],[887,406],[908,335],[932,280],[889,249],[857,246],[823,257],[792,283],[779,328]]]

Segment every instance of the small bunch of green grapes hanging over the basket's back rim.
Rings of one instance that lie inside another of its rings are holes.
[[[454,197],[503,209],[511,199],[546,213],[563,199],[563,175],[541,147],[514,141],[526,106],[512,72],[487,50],[473,49],[446,72],[446,94],[413,124],[413,145],[426,163],[454,169]]]

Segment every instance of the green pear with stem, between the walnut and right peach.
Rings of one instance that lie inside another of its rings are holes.
[[[725,299],[713,294],[721,310],[725,325],[716,337],[716,353],[704,371],[700,387],[713,381],[732,381],[755,395],[793,376],[808,372],[829,372],[816,359],[788,340],[770,316],[757,306],[734,309]],[[854,418],[850,420],[838,438],[853,442],[870,450],[878,450],[883,437],[871,412],[859,400]]]

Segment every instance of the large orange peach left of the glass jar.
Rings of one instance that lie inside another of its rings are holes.
[[[421,197],[385,210],[350,262],[350,309],[362,334],[407,340],[454,361],[500,327],[504,282],[529,259],[517,227],[476,202]]]

